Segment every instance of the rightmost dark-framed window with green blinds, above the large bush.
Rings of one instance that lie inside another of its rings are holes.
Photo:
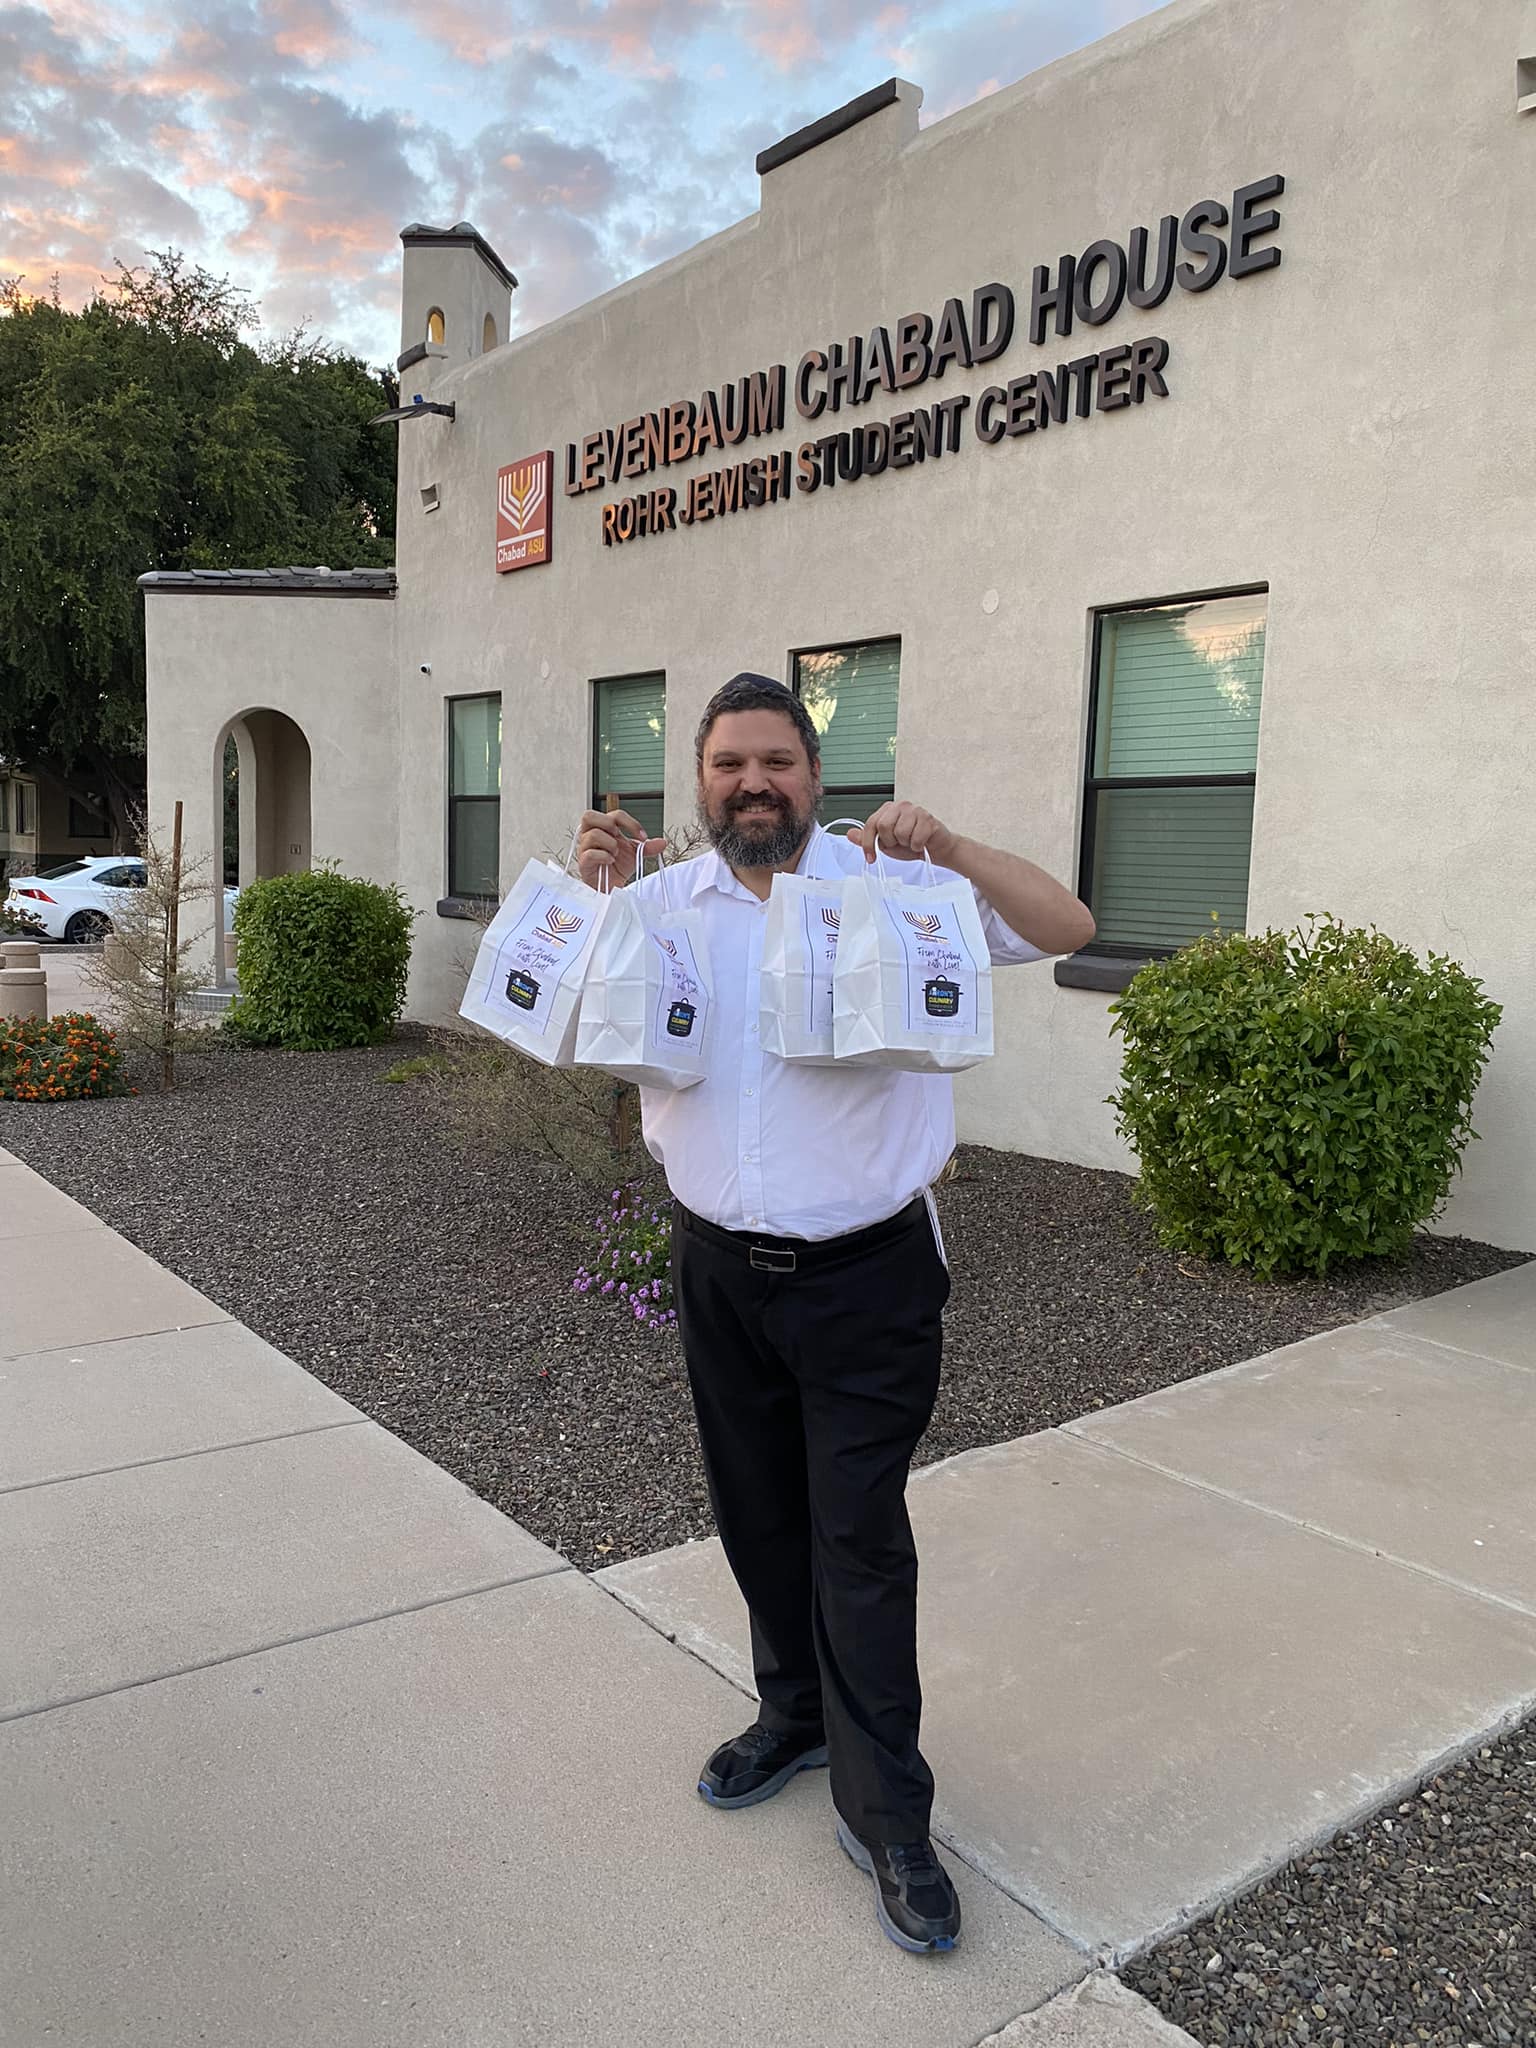
[[[1243,930],[1264,592],[1102,612],[1094,633],[1081,895],[1094,952]]]

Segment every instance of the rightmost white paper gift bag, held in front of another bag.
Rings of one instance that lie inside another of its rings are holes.
[[[971,883],[903,883],[881,858],[844,879],[840,909],[840,1065],[958,1073],[991,1057],[991,954]]]

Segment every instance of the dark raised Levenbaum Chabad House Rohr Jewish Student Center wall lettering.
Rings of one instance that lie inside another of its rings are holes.
[[[1067,338],[1073,330],[1098,336],[1122,307],[1155,311],[1176,289],[1200,295],[1223,279],[1278,268],[1280,248],[1272,238],[1280,213],[1272,201],[1284,188],[1280,172],[1270,172],[1239,184],[1229,199],[1200,199],[1182,215],[1165,213],[1155,229],[1133,227],[1118,240],[1092,242],[1081,254],[1034,264],[1028,305],[1010,285],[979,285],[969,297],[946,299],[938,313],[901,313],[868,334],[807,348],[795,371],[776,362],[698,399],[674,397],[655,412],[596,428],[565,449],[565,496],[612,489],[715,451],[723,455],[762,434],[782,434],[791,408],[811,428],[811,438],[799,446],[784,444],[768,455],[743,451],[737,461],[696,471],[680,485],[655,483],[614,496],[602,506],[600,532],[604,547],[623,547],[729,512],[799,502],[887,469],[915,469],[956,457],[971,442],[997,446],[1094,414],[1128,412],[1147,397],[1163,399],[1169,393],[1163,336],[1143,334],[1120,346],[1090,342],[1087,348]],[[885,420],[829,422],[877,393],[905,397],[950,367],[969,371],[993,362],[1016,340],[1049,348],[1057,360],[975,395],[956,391]],[[549,465],[551,457],[537,461]],[[504,504],[508,475],[504,469]],[[553,492],[553,475],[547,489]],[[502,557],[500,539],[496,565],[520,567]]]

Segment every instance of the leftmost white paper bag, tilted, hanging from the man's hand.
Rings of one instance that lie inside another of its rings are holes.
[[[612,897],[530,860],[479,942],[459,1016],[545,1067],[575,1061],[582,981]]]

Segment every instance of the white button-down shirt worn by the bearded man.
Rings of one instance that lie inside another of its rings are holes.
[[[813,831],[801,874],[831,881],[866,866],[864,852]],[[891,862],[905,883],[922,860]],[[954,881],[948,868],[932,879]],[[766,1237],[842,1237],[905,1208],[954,1151],[954,1085],[946,1073],[889,1067],[807,1067],[762,1051],[758,989],[766,901],[711,852],[664,874],[674,907],[702,913],[713,979],[709,1075],[686,1090],[641,1090],[645,1145],[696,1217]],[[999,967],[1044,954],[977,895],[987,950]]]

